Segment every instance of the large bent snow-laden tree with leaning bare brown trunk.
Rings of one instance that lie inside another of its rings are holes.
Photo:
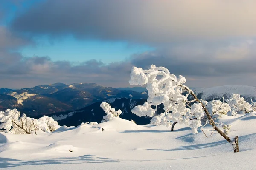
[[[198,128],[202,126],[201,119],[206,117],[207,122],[233,146],[234,152],[239,152],[238,136],[230,139],[223,132],[224,130],[219,129],[218,124],[214,122],[213,116],[219,109],[213,109],[213,112],[210,113],[205,105],[206,103],[199,100],[189,87],[183,85],[185,82],[185,77],[181,75],[176,77],[164,67],[151,65],[148,70],[133,67],[129,83],[130,85],[146,85],[148,99],[143,105],[135,106],[132,113],[138,116],[154,116],[151,119],[151,123],[154,125],[166,125],[168,127],[172,125],[172,122],[189,125],[194,134],[198,133]],[[193,97],[192,100],[188,99],[189,95]],[[155,116],[157,106],[162,103],[164,113]],[[216,102],[212,103],[212,106],[217,104]],[[227,125],[221,125],[221,128],[224,127],[227,127]]]

